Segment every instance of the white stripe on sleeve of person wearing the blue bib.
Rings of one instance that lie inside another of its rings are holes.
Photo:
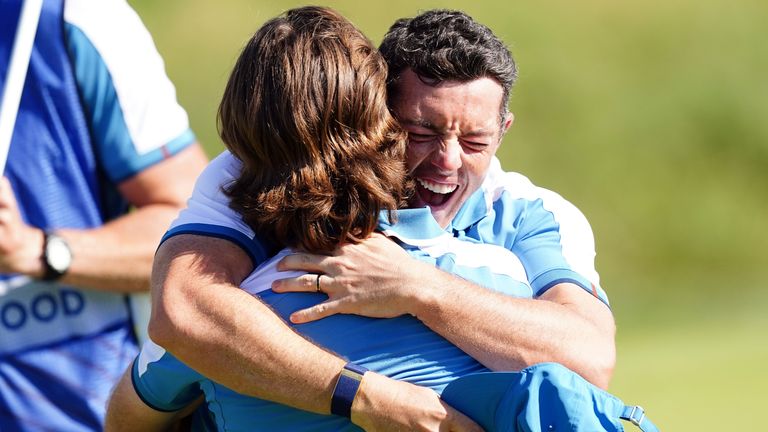
[[[64,19],[78,27],[99,52],[117,92],[139,154],[189,129],[187,113],[141,18],[124,0],[67,0]]]

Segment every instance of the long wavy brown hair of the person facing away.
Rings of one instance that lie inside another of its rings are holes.
[[[289,10],[248,41],[218,121],[243,163],[225,193],[257,234],[330,251],[405,202],[406,137],[387,109],[386,74],[371,42],[328,8]]]

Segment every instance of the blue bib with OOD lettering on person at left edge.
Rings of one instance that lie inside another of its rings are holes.
[[[98,163],[67,51],[62,0],[45,0],[8,156],[24,221],[90,228],[127,210]],[[0,91],[21,1],[0,1]],[[102,430],[137,352],[127,298],[0,275],[0,430]]]

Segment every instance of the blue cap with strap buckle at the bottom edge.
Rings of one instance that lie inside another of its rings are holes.
[[[557,363],[467,375],[450,383],[442,399],[487,432],[621,432],[633,408]],[[638,423],[644,432],[658,431],[645,417]]]

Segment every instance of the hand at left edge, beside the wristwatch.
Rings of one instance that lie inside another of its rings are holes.
[[[43,232],[22,220],[7,178],[0,178],[0,272],[42,273]]]

